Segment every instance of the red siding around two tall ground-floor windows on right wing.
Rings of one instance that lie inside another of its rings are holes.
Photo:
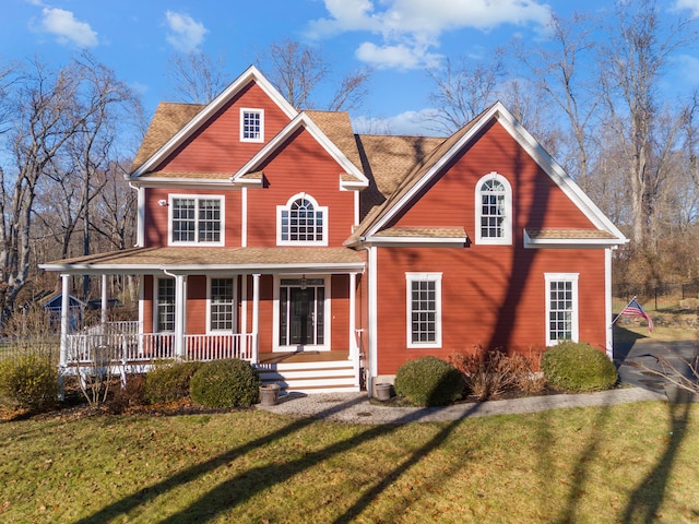
[[[407,348],[406,272],[442,273],[441,349]],[[604,348],[603,250],[380,249],[378,372],[395,373],[406,360],[424,355],[447,358],[477,346],[523,354],[544,348],[544,273],[580,274],[580,340]]]

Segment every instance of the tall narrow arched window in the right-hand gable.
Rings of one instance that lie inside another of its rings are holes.
[[[512,190],[497,172],[476,184],[476,243],[512,243]]]

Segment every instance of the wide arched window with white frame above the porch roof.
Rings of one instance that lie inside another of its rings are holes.
[[[328,246],[328,207],[299,193],[277,206],[277,245]]]

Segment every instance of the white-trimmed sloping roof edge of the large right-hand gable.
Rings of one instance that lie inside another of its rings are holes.
[[[608,238],[605,240],[607,243],[625,243],[627,241],[624,234],[621,234],[590,198],[583,193],[562,167],[546,153],[529,131],[498,102],[435,147],[435,150],[428,154],[425,162],[416,165],[414,169],[407,174],[386,202],[375,207],[365,217],[359,227],[345,241],[345,245],[356,245],[362,237],[371,237],[382,228],[388,227],[391,219],[408,206],[414,198],[419,194],[419,191],[429,184],[435,177],[439,176],[442,168],[447,166],[452,158],[473,143],[479,132],[493,120],[498,121],[506,129],[597,229],[608,233]]]

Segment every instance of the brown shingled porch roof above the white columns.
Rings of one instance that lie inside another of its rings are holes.
[[[132,248],[39,264],[66,274],[362,273],[348,248]]]

